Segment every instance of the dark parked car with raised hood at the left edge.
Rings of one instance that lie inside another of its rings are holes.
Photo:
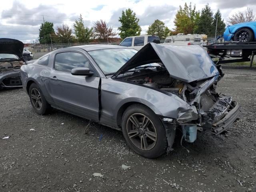
[[[0,38],[0,88],[22,87],[20,67],[24,44],[16,39]]]

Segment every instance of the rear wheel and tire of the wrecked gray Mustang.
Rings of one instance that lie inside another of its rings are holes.
[[[32,107],[36,111],[36,113],[40,115],[48,114],[51,109],[50,104],[45,100],[42,91],[38,87],[36,83],[32,83],[29,87],[29,98]],[[36,104],[37,102],[37,104]]]

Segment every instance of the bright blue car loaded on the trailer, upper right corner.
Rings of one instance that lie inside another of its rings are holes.
[[[228,26],[223,34],[225,41],[252,42],[256,39],[256,21]]]

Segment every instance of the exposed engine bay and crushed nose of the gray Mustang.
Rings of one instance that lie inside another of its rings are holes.
[[[182,82],[170,77],[161,63],[156,67],[143,67],[137,70],[135,68],[118,76],[117,79],[166,91],[180,97],[190,104],[194,112],[191,112],[191,118],[188,118],[188,114],[178,118],[178,124],[184,126],[194,124],[198,130],[208,129],[213,134],[219,134],[224,130],[216,123],[236,106],[230,96],[219,95],[216,92],[218,79]]]

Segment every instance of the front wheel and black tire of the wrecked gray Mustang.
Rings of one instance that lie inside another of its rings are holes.
[[[135,124],[133,124],[130,120],[133,119],[134,116],[136,116],[137,122],[141,123],[140,126],[135,126]],[[147,121],[146,118],[149,120]],[[143,131],[142,128],[144,120],[146,122],[144,124],[145,131]],[[132,128],[132,130],[130,130],[130,128]],[[136,129],[138,132],[136,132]],[[140,132],[141,130],[142,132]],[[156,114],[150,108],[142,104],[133,104],[124,111],[122,116],[122,132],[130,148],[141,156],[147,158],[156,158],[166,152],[167,140],[164,126],[158,116],[156,116]],[[128,132],[132,138],[129,137]],[[152,135],[154,132],[155,134]],[[137,135],[133,136],[132,134]],[[144,141],[144,138],[146,145],[145,142],[142,142],[142,140]],[[152,138],[154,138],[155,141],[152,140]]]

